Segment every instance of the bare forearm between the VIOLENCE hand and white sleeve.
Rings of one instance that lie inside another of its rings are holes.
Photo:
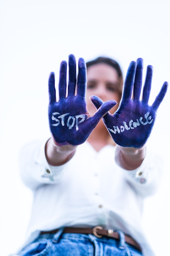
[[[146,146],[141,148],[125,148],[117,146],[115,152],[115,161],[121,167],[128,171],[138,168],[146,155]]]

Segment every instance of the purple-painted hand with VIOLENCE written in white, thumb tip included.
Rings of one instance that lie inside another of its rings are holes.
[[[141,148],[146,143],[157,114],[157,109],[163,100],[168,83],[164,82],[152,106],[148,105],[152,83],[153,68],[148,65],[143,88],[143,97],[140,100],[143,59],[137,63],[132,61],[128,67],[121,102],[117,111],[103,117],[104,124],[116,144],[123,147]],[[103,101],[92,96],[91,101],[99,108]]]

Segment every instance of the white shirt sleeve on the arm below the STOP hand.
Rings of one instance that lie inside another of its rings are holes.
[[[20,150],[20,176],[23,183],[31,189],[36,189],[42,184],[56,184],[60,182],[64,167],[51,166],[45,156],[46,141],[33,141],[23,146]]]

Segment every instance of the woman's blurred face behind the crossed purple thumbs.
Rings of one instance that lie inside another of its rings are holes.
[[[91,115],[96,112],[96,108],[89,99],[91,95],[98,96],[102,101],[109,101],[111,99],[117,101],[110,113],[114,113],[121,99],[120,81],[117,71],[105,63],[99,63],[88,67],[87,69],[87,90],[86,100],[87,108]]]

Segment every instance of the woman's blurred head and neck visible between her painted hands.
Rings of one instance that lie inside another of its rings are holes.
[[[95,60],[86,63],[86,67],[86,100],[88,111],[91,115],[96,112],[95,106],[89,99],[91,95],[96,95],[104,102],[112,99],[117,102],[117,105],[110,110],[110,113],[113,114],[119,107],[123,88],[123,75],[119,64],[110,58],[98,57]],[[93,130],[91,136],[88,137],[88,142],[91,143],[97,151],[107,144],[115,145],[115,142],[110,137],[102,120],[95,130]]]

